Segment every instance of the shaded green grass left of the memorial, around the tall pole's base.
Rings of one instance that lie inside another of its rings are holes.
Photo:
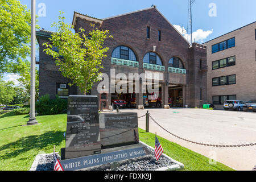
[[[26,125],[28,115],[0,115],[0,170],[29,170],[35,156],[65,147],[64,131],[67,115],[46,115],[36,118],[42,125]]]

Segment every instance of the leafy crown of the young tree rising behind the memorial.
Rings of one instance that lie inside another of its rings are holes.
[[[100,69],[103,68],[101,61],[109,50],[108,47],[103,47],[108,36],[108,30],[98,30],[94,28],[88,34],[80,28],[79,33],[73,33],[73,26],[69,23],[64,23],[64,16],[59,16],[59,22],[53,23],[57,32],[52,34],[51,43],[44,43],[46,46],[47,55],[53,56],[59,71],[64,77],[71,79],[73,82],[69,85],[79,86],[82,93],[86,95],[92,88],[94,82],[99,81]],[[53,51],[52,46],[55,46],[59,51]]]

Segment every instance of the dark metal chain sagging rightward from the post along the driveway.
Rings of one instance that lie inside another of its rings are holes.
[[[205,144],[205,143],[199,143],[199,142],[193,142],[191,140],[187,140],[184,138],[181,138],[173,133],[171,133],[170,131],[164,129],[164,127],[162,127],[161,125],[158,124],[158,122],[155,121],[155,119],[153,119],[150,115],[150,118],[156,123],[156,125],[158,125],[159,127],[161,127],[164,131],[166,131],[167,133],[173,135],[176,138],[179,138],[181,140],[185,140],[186,142],[190,142],[190,143],[195,143],[195,144],[200,144],[201,146],[210,146],[210,147],[248,147],[248,146],[256,146],[256,143],[250,143],[250,144],[230,144],[230,145],[221,145],[221,144]]]

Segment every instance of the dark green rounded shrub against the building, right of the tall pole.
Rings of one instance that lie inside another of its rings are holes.
[[[63,114],[67,113],[68,101],[56,96],[56,99],[50,99],[49,95],[39,98],[36,102],[36,111],[40,115]]]

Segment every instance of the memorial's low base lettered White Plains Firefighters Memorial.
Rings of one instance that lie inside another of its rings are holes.
[[[63,159],[64,150],[61,150]],[[104,170],[113,165],[130,162],[130,160],[143,160],[151,158],[151,153],[146,146],[141,143],[129,146],[106,148],[101,150],[101,154],[82,156],[80,158],[60,160],[64,171],[78,170]]]

